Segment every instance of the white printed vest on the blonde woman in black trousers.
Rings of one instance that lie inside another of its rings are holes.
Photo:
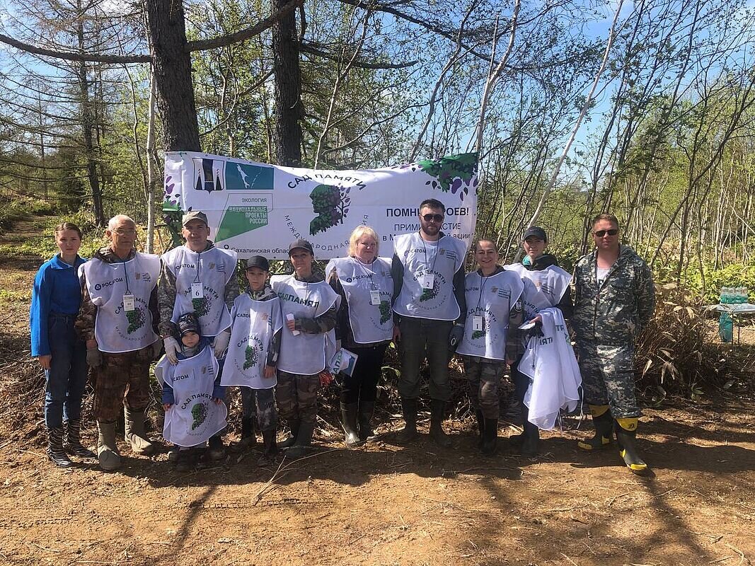
[[[331,260],[325,273],[336,270],[338,281],[344,288],[349,304],[349,324],[354,341],[358,344],[384,342],[393,337],[393,278],[390,259],[377,257],[366,266],[354,257]],[[371,303],[371,291],[380,293],[381,303]]]

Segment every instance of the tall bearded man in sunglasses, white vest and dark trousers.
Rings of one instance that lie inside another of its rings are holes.
[[[449,348],[464,336],[464,255],[467,245],[441,232],[445,207],[435,198],[422,201],[418,232],[396,236],[393,276],[393,341],[401,355],[399,395],[406,426],[404,441],[417,435],[420,365],[430,365],[430,438],[451,445],[442,429],[448,385]]]

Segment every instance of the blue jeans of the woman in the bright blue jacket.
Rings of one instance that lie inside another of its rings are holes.
[[[45,371],[45,425],[63,426],[82,417],[82,397],[87,383],[87,349],[73,329],[75,315],[50,313],[50,369]]]

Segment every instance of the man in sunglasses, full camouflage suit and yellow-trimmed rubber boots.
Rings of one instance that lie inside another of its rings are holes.
[[[648,265],[619,244],[619,225],[612,214],[592,222],[595,250],[575,266],[575,306],[584,399],[593,415],[595,435],[579,448],[609,448],[615,433],[619,454],[636,474],[648,466],[635,444],[640,415],[634,386],[634,340],[648,324],[655,288]]]

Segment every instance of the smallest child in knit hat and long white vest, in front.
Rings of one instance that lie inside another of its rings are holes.
[[[225,428],[228,413],[217,358],[211,340],[201,335],[196,314],[181,315],[176,328],[180,339],[177,361],[172,364],[162,358],[155,373],[162,377],[162,436],[178,447],[176,471],[188,472],[199,456],[193,448],[204,447]]]

